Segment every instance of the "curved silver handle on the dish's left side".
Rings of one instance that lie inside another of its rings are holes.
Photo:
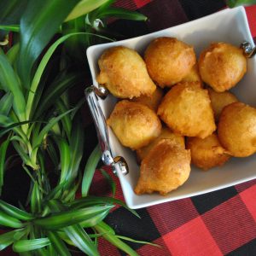
[[[108,126],[106,124],[105,116],[102,112],[102,108],[99,105],[94,85],[85,89],[85,96],[90,108],[90,113],[96,125],[96,132],[99,139],[100,147],[102,148],[102,161],[107,166],[112,166],[113,173],[117,174],[118,170],[123,174],[129,172],[128,165],[125,159],[121,156],[113,158],[111,148],[109,146]],[[104,98],[106,97],[103,96]]]

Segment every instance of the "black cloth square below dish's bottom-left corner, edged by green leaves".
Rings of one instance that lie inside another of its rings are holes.
[[[150,218],[146,208],[137,210],[141,218],[137,218],[124,207],[119,207],[110,213],[105,221],[111,225],[119,236],[127,236],[139,241],[154,241],[160,237],[159,231],[156,229],[154,222]],[[125,241],[133,249],[137,250],[142,247],[142,243]]]

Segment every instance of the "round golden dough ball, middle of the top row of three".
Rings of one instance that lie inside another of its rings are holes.
[[[144,59],[150,77],[160,87],[177,84],[195,65],[192,46],[177,38],[156,38],[145,51]]]

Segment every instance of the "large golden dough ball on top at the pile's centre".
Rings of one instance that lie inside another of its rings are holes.
[[[172,131],[183,136],[205,138],[216,130],[208,92],[199,82],[173,86],[157,113]]]

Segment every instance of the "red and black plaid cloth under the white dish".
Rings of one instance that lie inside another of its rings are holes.
[[[111,23],[113,30],[131,38],[210,15],[224,9],[225,3],[220,0],[120,0],[116,6],[137,9],[149,18],[146,23],[129,20]],[[247,17],[256,37],[256,5],[247,8]],[[118,178],[115,180],[117,197],[123,199]],[[108,194],[108,184],[100,172],[96,173],[93,188],[94,194]],[[256,255],[256,180],[137,212],[141,219],[119,207],[106,221],[120,236],[161,246],[130,242],[140,255]],[[99,250],[103,256],[125,255],[103,240]]]

